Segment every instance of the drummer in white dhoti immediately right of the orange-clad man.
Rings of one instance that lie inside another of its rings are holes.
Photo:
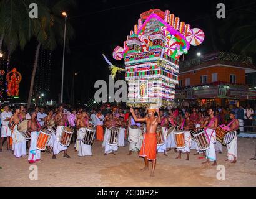
[[[168,119],[164,116],[164,111],[160,110],[159,111],[160,117],[161,117],[161,128],[162,128],[162,133],[164,135],[164,144],[157,146],[157,153],[164,153],[164,155],[167,156],[166,154],[166,148],[167,148],[167,133],[168,133]]]

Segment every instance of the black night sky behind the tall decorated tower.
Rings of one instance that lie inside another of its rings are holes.
[[[104,53],[109,60],[119,66],[124,61],[112,58],[112,51],[117,45],[123,45],[130,30],[142,12],[149,9],[169,9],[170,13],[180,17],[180,21],[204,31],[205,40],[198,47],[190,47],[185,60],[195,58],[197,52],[202,54],[213,52],[214,45],[219,50],[230,51],[229,30],[220,34],[220,27],[227,19],[217,19],[216,5],[222,2],[226,6],[227,17],[239,19],[234,13],[239,9],[255,7],[255,1],[114,1],[114,0],[77,0],[77,6],[67,10],[68,21],[76,31],[76,36],[70,44],[70,52],[66,54],[64,90],[71,90],[72,73],[78,75],[75,80],[75,103],[84,103],[94,97],[94,83],[97,80],[107,80],[108,65],[102,57]],[[240,3],[239,3],[240,2]],[[247,6],[249,5],[249,6]],[[213,45],[214,43],[214,45]],[[34,62],[36,43],[31,41],[24,51],[16,50],[11,57],[11,68],[16,67],[23,75],[20,85],[21,100],[27,100],[29,83]],[[51,91],[47,99],[57,100],[61,93],[62,46],[57,47],[52,56]],[[118,78],[124,79],[124,73]],[[64,102],[68,103],[67,92]]]

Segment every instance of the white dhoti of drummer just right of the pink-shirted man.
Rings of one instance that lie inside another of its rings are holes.
[[[78,142],[78,156],[92,155],[92,146],[89,144],[84,144],[82,139],[84,139],[84,134],[86,133],[86,128],[80,128],[77,131],[77,142]]]

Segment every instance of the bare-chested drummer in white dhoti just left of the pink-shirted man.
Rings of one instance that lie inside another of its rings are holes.
[[[56,113],[55,116],[55,124],[57,124],[57,129],[56,129],[56,139],[54,141],[54,146],[53,146],[53,155],[52,159],[57,159],[56,155],[59,154],[62,150],[64,150],[64,155],[63,157],[70,158],[69,155],[67,155],[67,147],[62,146],[59,144],[59,139],[61,138],[62,131],[65,126],[67,126],[67,118],[65,117],[64,113],[64,108],[63,106],[59,106],[58,112]]]

